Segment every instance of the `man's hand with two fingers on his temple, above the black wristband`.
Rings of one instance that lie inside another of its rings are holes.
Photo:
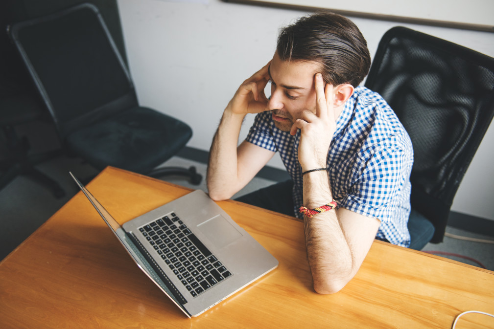
[[[295,120],[290,134],[295,135],[300,129],[298,145],[298,162],[302,171],[315,168],[326,168],[329,145],[336,131],[334,118],[333,86],[324,85],[323,76],[317,73],[314,77],[316,89],[316,113],[309,110],[302,112],[301,118]]]

